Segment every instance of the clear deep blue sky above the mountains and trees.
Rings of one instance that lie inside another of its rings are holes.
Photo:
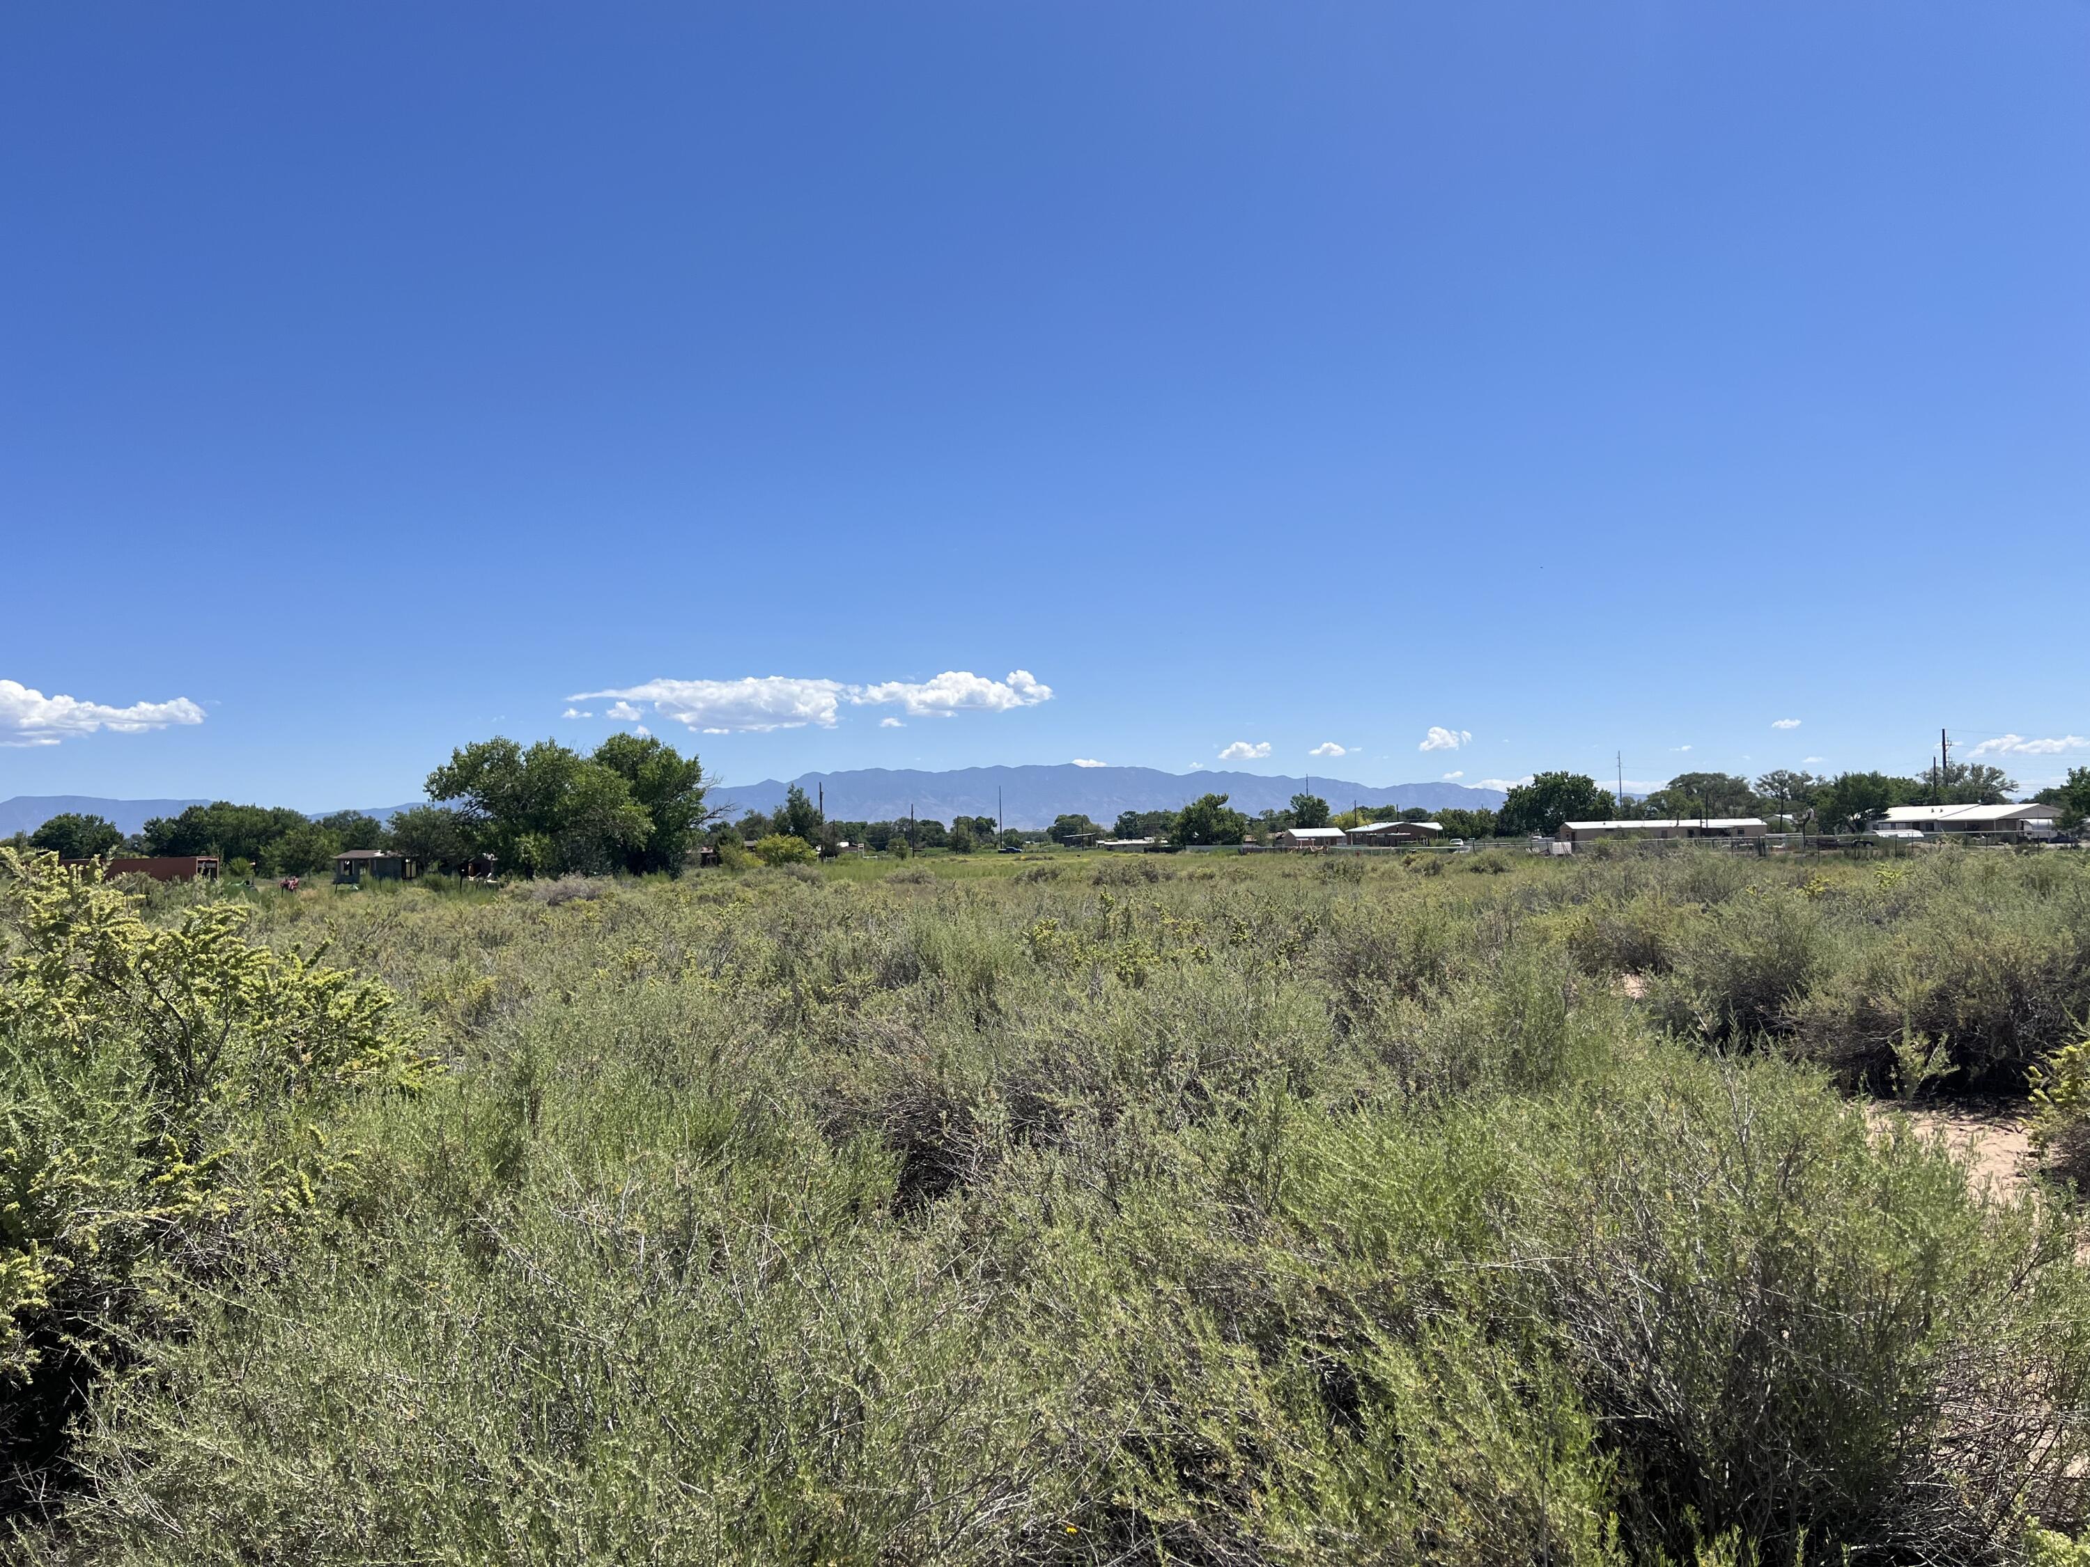
[[[0,136],[0,796],[2090,763],[2082,4],[86,2]]]

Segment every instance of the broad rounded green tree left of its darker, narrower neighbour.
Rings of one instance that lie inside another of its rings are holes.
[[[619,773],[556,740],[529,750],[506,738],[460,746],[428,773],[428,798],[456,800],[502,869],[525,875],[602,873],[652,834]]]

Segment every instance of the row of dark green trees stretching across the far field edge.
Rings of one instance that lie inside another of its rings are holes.
[[[2017,781],[2000,767],[1950,763],[1929,777],[1776,769],[1754,781],[1735,773],[1678,773],[1645,798],[1618,796],[1586,773],[1538,773],[1509,790],[1499,811],[1346,811],[1315,794],[1294,794],[1283,811],[1250,817],[1225,794],[1204,794],[1181,811],[1122,811],[1110,827],[1081,813],[1060,815],[1043,832],[1003,829],[993,817],[959,815],[895,821],[830,821],[796,784],[771,811],[727,821],[709,809],[709,779],[696,756],[681,756],[652,735],[617,733],[581,754],[554,740],[520,746],[483,740],[460,746],[428,773],[433,804],[395,811],[389,821],[359,811],[307,817],[286,806],[213,800],[173,817],[153,817],[125,836],[96,815],[65,813],[19,848],[63,859],[107,855],[217,855],[234,875],[314,875],[351,848],[389,848],[431,869],[489,861],[504,875],[629,871],[677,875],[709,844],[729,859],[752,852],[769,863],[832,855],[861,844],[878,855],[943,850],[970,855],[1035,842],[1081,844],[1106,836],[1166,844],[1269,842],[1287,827],[1356,827],[1365,821],[1438,821],[1450,838],[1553,834],[1563,821],[1664,817],[1766,817],[1802,832],[1858,832],[1896,804],[2000,804]],[[2090,767],[2034,796],[2059,809],[2065,829],[2090,817]]]

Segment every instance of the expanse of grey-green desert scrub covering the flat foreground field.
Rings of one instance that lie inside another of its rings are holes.
[[[155,892],[397,1005],[240,1013],[155,1132],[205,1195],[17,1289],[13,1554],[2071,1561],[2075,1201],[1864,1103],[2082,1038],[2084,861]],[[29,1193],[176,963],[96,1034],[84,917],[10,919]]]

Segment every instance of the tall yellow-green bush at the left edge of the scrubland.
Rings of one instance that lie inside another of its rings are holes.
[[[90,1381],[182,1320],[184,1281],[324,1222],[355,1162],[328,1130],[428,1070],[387,986],[242,938],[188,901],[0,850],[0,1454],[63,1492]]]

